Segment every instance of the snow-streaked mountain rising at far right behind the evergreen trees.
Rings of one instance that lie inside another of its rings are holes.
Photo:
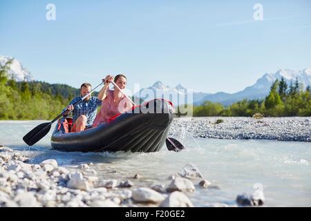
[[[298,78],[299,82],[303,84],[303,87],[305,88],[306,86],[311,85],[311,68],[298,71],[281,69],[274,74],[266,73],[263,77],[259,78],[253,86],[249,86],[238,93],[229,94],[220,92],[207,95],[195,104],[202,104],[205,101],[211,101],[229,105],[242,99],[262,99],[268,95],[272,83],[276,79],[281,80],[282,77],[285,79],[288,86],[291,82],[294,83],[296,78]]]

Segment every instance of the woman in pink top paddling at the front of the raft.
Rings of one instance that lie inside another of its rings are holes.
[[[129,102],[118,88],[114,88],[114,90],[109,89],[111,81],[115,81],[115,84],[121,90],[126,88],[126,77],[124,75],[117,75],[114,79],[111,75],[107,75],[103,80],[105,83],[104,90],[101,90],[98,95],[98,97],[102,97],[102,108],[97,113],[92,127],[99,126],[107,122],[111,117],[124,113],[133,107],[131,102]]]

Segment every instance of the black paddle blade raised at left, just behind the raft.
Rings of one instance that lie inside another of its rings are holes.
[[[23,141],[29,146],[32,146],[41,140],[48,131],[50,131],[50,123],[40,124],[23,136]]]

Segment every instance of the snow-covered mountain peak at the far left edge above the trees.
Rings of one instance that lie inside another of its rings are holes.
[[[10,68],[8,69],[8,77],[10,79],[15,79],[15,81],[33,81],[33,77],[30,72],[23,68],[21,62],[15,58],[9,56],[0,55],[0,67],[3,67],[6,62],[12,59],[12,64],[10,64]]]

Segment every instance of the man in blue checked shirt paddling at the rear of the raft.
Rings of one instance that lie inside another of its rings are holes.
[[[75,102],[78,102],[82,97],[86,96],[92,90],[91,84],[84,83],[80,87],[80,96],[75,97],[67,106],[68,111],[73,111],[73,126],[71,126],[70,132],[84,131],[91,128],[96,117],[97,108],[102,105],[102,99],[104,93],[100,90],[97,97],[91,97],[91,94],[86,97],[80,104],[73,107]]]

